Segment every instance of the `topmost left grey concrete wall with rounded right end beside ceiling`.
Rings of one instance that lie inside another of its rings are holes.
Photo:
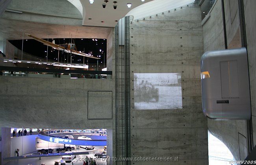
[[[12,0],[7,9],[23,13],[4,12],[2,18],[49,24],[82,25],[82,15],[67,0]]]

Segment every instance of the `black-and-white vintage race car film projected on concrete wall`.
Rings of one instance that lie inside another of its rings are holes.
[[[180,73],[135,73],[135,109],[181,109]]]

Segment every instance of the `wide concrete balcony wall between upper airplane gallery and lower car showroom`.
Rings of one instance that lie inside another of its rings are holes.
[[[112,119],[87,120],[88,91],[112,91],[112,80],[1,76],[0,85],[1,126],[113,128]],[[108,103],[100,102],[101,106],[104,104]]]

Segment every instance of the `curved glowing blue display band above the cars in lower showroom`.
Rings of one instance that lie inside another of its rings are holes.
[[[38,134],[38,138],[53,142],[53,143],[61,143],[65,145],[81,145],[81,146],[106,146],[106,140],[80,140],[80,139],[65,139],[61,137],[52,137]]]

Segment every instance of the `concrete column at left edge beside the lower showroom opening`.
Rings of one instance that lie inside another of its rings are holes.
[[[4,128],[1,129],[1,135],[2,135],[2,165],[4,163],[7,163],[7,161],[4,161],[3,158],[7,158],[11,156],[11,128]],[[14,152],[14,151],[13,151]]]

